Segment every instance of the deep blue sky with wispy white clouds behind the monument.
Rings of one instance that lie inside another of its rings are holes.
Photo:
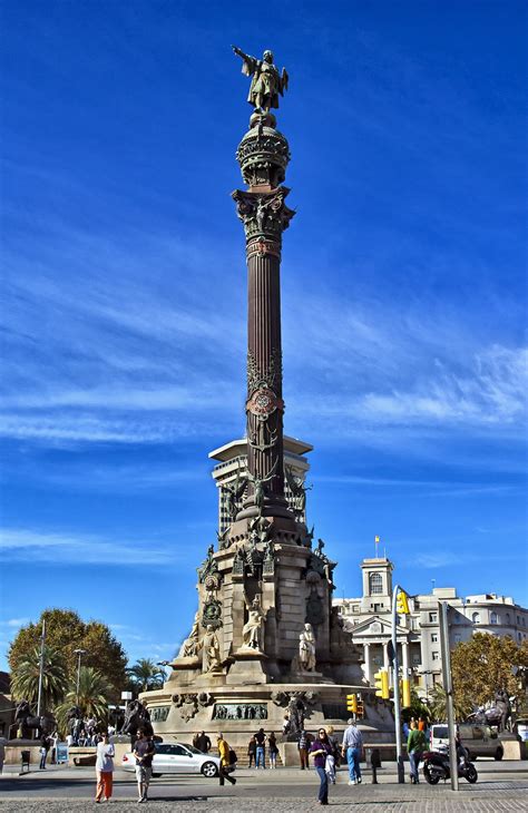
[[[232,42],[291,76],[285,429],[336,595],[378,533],[411,592],[528,603],[526,3],[261,8],[3,3],[2,657],[47,606],[131,659],[192,621],[244,428]]]

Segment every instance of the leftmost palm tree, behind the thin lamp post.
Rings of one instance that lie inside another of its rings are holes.
[[[20,660],[11,675],[11,693],[18,699],[27,699],[30,704],[37,703],[39,696],[40,676],[40,646],[35,646]],[[42,708],[51,707],[60,702],[68,687],[66,676],[65,658],[62,654],[51,646],[43,647],[43,670],[42,670]]]

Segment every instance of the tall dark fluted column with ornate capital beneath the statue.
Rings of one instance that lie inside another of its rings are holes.
[[[294,212],[281,186],[290,159],[272,114],[254,114],[237,151],[247,190],[233,198],[244,224],[247,259],[247,469],[248,497],[238,518],[291,517],[284,497],[281,339],[282,233]]]

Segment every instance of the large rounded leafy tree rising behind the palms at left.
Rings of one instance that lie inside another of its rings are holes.
[[[35,647],[40,646],[42,621],[46,619],[46,644],[61,653],[68,680],[77,679],[75,649],[86,649],[82,666],[92,666],[110,684],[111,698],[119,697],[126,685],[127,656],[106,624],[84,621],[74,610],[47,609],[36,624],[22,627],[9,648],[9,665],[16,673]]]

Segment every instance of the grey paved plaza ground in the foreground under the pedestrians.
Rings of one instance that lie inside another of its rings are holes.
[[[378,811],[528,811],[528,764],[478,762],[479,782],[469,785],[462,780],[459,793],[449,784],[434,787],[422,782],[414,786],[399,785],[393,768],[380,771],[380,784],[371,784],[369,771],[363,784],[348,785],[345,771],[331,786],[330,805],[358,813]],[[180,810],[185,813],[301,813],[319,810],[319,780],[314,771],[296,768],[236,772],[236,786],[219,787],[217,780],[203,777],[163,776],[154,780],[150,801],[145,809],[157,813]],[[66,813],[96,810],[92,768],[49,768],[46,774],[32,771],[19,776],[6,770],[0,777],[0,813]],[[138,810],[134,776],[118,770],[111,807],[126,813]]]

